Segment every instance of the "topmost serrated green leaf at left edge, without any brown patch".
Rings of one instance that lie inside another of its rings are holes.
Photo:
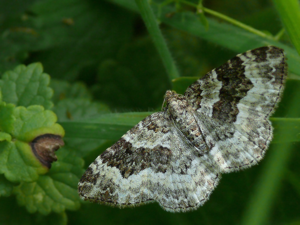
[[[43,105],[52,107],[50,98],[53,91],[48,87],[50,77],[43,73],[40,63],[32,63],[27,67],[19,65],[12,71],[3,74],[0,82],[2,101],[16,106]]]

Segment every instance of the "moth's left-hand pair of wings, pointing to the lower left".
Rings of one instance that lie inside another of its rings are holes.
[[[195,209],[220,178],[195,151],[164,112],[152,114],[88,167],[79,195],[119,207],[158,201],[172,212]]]

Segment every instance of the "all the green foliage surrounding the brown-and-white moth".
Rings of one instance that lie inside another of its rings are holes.
[[[171,80],[133,0],[2,1],[0,224],[300,223],[300,57],[292,47],[300,37],[295,32],[291,43],[285,24],[299,28],[292,14],[297,8],[284,15],[280,0],[274,0],[280,13],[267,0],[216,0],[203,1],[198,10],[204,14],[197,14],[198,1],[189,2],[151,1],[181,74]],[[263,32],[225,22],[205,8]],[[169,213],[157,203],[118,209],[79,199],[85,168],[159,111],[166,90],[184,93],[229,58],[265,45],[285,50],[289,79],[271,118],[273,142],[259,165],[224,174],[210,200],[193,212]],[[64,131],[58,161],[45,168],[30,142]]]

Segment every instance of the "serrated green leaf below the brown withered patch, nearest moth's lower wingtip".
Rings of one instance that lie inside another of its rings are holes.
[[[58,161],[52,164],[47,175],[39,176],[35,182],[21,182],[14,188],[18,203],[31,213],[47,215],[76,210],[80,206],[77,184],[84,172],[83,160],[65,148],[57,152],[57,157]]]

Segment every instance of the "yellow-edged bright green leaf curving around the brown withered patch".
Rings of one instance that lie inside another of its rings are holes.
[[[7,113],[2,113],[4,119],[6,117],[12,119],[9,126],[1,126],[1,128],[4,127],[3,130],[7,131],[13,139],[0,142],[0,173],[4,173],[5,177],[12,182],[37,180],[38,175],[45,174],[48,168],[36,158],[30,142],[44,134],[63,137],[64,130],[56,123],[55,114],[44,110],[42,106],[34,105],[28,108],[23,106],[13,108],[11,104],[6,105],[8,106],[6,108],[4,104],[2,106],[1,112],[7,110]]]

